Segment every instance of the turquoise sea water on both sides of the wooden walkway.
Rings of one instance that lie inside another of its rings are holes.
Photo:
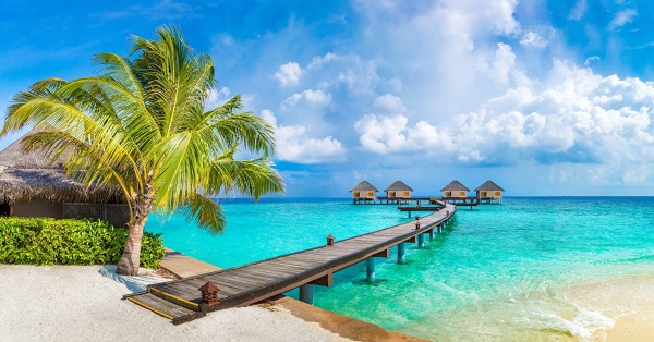
[[[393,206],[347,199],[235,200],[223,209],[228,227],[216,236],[177,217],[150,218],[146,229],[173,249],[231,267],[408,220]],[[395,255],[379,260],[375,284],[363,281],[362,264],[338,272],[315,304],[429,340],[586,339],[621,313],[588,300],[589,284],[654,277],[654,198],[506,198],[459,209],[435,241],[408,251],[408,265]]]

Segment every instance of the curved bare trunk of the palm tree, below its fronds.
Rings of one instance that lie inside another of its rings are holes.
[[[134,210],[134,215],[129,225],[130,233],[128,234],[128,241],[125,242],[125,249],[123,251],[120,261],[118,261],[118,267],[116,268],[117,274],[136,276],[138,273],[143,228],[145,227],[147,215],[150,212],[152,207],[153,200],[148,195],[140,196],[136,203],[133,205],[132,210]]]

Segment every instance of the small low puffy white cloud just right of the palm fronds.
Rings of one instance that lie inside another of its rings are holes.
[[[346,148],[338,139],[312,137],[303,125],[278,125],[270,110],[263,110],[262,118],[275,127],[277,159],[305,164],[346,160]]]

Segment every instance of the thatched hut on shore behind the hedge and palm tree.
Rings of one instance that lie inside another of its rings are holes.
[[[50,163],[41,151],[23,152],[23,138],[0,151],[0,216],[92,218],[114,225],[129,222],[121,193],[75,181],[61,162]]]

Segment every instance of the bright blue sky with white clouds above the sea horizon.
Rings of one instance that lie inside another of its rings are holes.
[[[361,180],[436,195],[654,194],[654,2],[0,2],[0,106],[173,24],[214,58],[207,106],[276,126],[288,196]],[[0,139],[0,148],[19,134]]]

